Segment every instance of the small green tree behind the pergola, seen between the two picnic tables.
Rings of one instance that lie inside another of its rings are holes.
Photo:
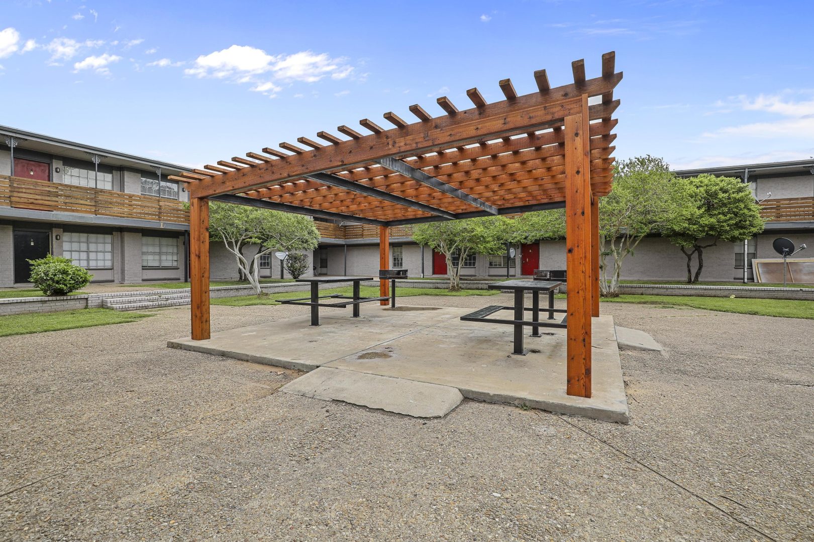
[[[470,254],[497,254],[503,248],[505,218],[484,216],[477,219],[447,220],[419,224],[413,228],[413,240],[444,254],[449,274],[449,291],[461,289],[461,267]],[[457,258],[457,262],[454,258]]]

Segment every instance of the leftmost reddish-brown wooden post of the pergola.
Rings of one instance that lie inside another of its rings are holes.
[[[190,198],[192,340],[209,338],[209,200]]]

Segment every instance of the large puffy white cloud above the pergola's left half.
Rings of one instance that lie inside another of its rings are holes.
[[[280,89],[278,83],[304,81],[314,83],[326,76],[342,80],[352,75],[347,59],[331,58],[326,53],[300,51],[295,54],[268,54],[252,46],[230,46],[227,49],[202,54],[195,65],[184,70],[188,76],[212,77],[234,83],[252,83],[252,90],[272,95]],[[269,79],[276,81],[272,83]],[[272,87],[265,88],[267,85]],[[257,90],[264,88],[263,90]]]

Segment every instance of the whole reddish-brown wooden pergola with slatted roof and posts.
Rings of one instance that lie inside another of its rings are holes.
[[[540,70],[534,93],[519,96],[505,79],[500,102],[470,89],[469,109],[442,97],[444,115],[416,104],[413,123],[389,112],[392,128],[361,119],[365,133],[343,125],[337,131],[345,137],[319,132],[322,142],[299,137],[299,145],[278,145],[287,152],[266,147],[170,177],[190,191],[192,339],[209,338],[209,200],[378,225],[382,269],[390,226],[565,207],[567,393],[591,397],[598,197],[613,179],[613,90],[622,73],[612,52],[602,55],[600,77],[586,80],[583,60],[571,69],[569,85],[551,88]],[[380,288],[386,296],[387,280]]]

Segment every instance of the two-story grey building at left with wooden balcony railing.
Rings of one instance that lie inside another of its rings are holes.
[[[0,287],[28,282],[29,259],[71,258],[94,282],[186,280],[190,168],[0,126]],[[261,274],[278,276],[276,258]],[[212,244],[212,279],[234,279]]]

